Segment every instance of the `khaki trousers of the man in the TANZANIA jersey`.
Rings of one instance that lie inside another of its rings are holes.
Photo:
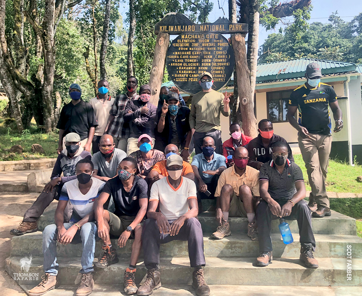
[[[309,195],[311,202],[329,208],[329,198],[325,189],[328,172],[329,153],[331,152],[332,136],[308,134],[310,138],[298,136],[298,144],[306,164],[308,180],[312,188]]]

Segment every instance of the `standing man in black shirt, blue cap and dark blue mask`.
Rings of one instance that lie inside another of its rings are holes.
[[[70,85],[69,95],[72,101],[62,108],[56,125],[56,128],[59,128],[58,154],[66,148],[64,136],[70,132],[78,134],[81,147],[90,152],[94,130],[98,126],[96,115],[92,106],[80,98],[82,90],[78,84]]]

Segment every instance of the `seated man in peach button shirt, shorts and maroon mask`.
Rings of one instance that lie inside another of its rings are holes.
[[[216,220],[219,227],[212,233],[213,238],[222,239],[231,235],[229,215],[248,217],[248,236],[252,241],[258,239],[255,208],[259,197],[259,172],[248,166],[248,150],[245,147],[235,149],[234,164],[221,173],[216,188]]]

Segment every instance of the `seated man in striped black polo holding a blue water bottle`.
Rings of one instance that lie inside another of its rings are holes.
[[[259,174],[262,200],[257,207],[260,255],[256,259],[256,266],[267,266],[273,260],[270,232],[274,215],[297,220],[301,245],[299,260],[306,267],[317,268],[318,262],[313,257],[316,242],[312,232],[311,210],[303,200],[306,186],[302,170],[287,159],[287,144],[276,142],[271,150],[273,160],[263,164]]]

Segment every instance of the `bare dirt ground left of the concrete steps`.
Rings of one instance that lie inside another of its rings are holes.
[[[0,193],[0,294],[3,296],[26,296],[5,271],[5,259],[10,257],[10,229],[19,225],[24,212],[37,197],[37,193]],[[56,201],[52,202],[49,208],[56,208]]]

